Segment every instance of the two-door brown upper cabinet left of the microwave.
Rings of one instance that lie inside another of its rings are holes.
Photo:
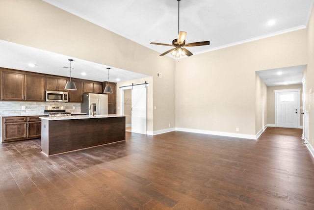
[[[43,75],[4,70],[1,76],[1,100],[45,100],[45,77]]]

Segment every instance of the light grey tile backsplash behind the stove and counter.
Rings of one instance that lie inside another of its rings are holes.
[[[63,105],[66,107],[67,112],[81,112],[80,103],[0,101],[0,116],[43,115],[45,105]]]

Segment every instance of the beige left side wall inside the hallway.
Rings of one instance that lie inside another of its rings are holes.
[[[267,124],[267,86],[255,73],[255,132],[261,133]]]

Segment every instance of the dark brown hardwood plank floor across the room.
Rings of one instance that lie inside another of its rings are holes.
[[[258,141],[169,132],[45,157],[40,140],[0,145],[1,210],[314,209],[301,130]]]

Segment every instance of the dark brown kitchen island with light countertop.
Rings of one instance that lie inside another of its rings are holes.
[[[126,139],[126,119],[123,115],[40,118],[41,149],[46,156]]]

